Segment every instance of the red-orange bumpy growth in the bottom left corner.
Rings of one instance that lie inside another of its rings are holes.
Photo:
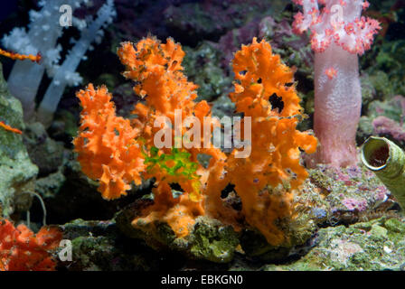
[[[34,235],[25,225],[0,220],[0,271],[53,271],[49,251],[61,242],[59,228],[44,228]]]

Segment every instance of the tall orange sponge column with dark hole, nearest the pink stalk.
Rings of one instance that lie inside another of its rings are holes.
[[[254,38],[243,45],[235,54],[233,71],[235,92],[230,97],[237,112],[251,117],[251,154],[235,158],[234,151],[226,169],[248,223],[268,243],[279,245],[285,239],[275,221],[292,216],[293,191],[307,177],[299,148],[314,153],[316,137],[297,131],[302,109],[294,85],[287,85],[294,81],[293,72],[272,54],[268,42]],[[281,191],[276,190],[280,185]]]

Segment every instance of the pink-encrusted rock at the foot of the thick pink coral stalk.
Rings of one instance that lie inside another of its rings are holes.
[[[310,214],[314,218],[316,215],[324,216],[319,219],[320,223],[322,219],[329,225],[354,223],[368,218],[376,210],[390,210],[394,204],[391,192],[364,165],[335,168],[318,164],[309,173],[301,199],[312,203]],[[311,194],[309,197],[306,196],[308,193]],[[320,214],[319,210],[325,212]]]

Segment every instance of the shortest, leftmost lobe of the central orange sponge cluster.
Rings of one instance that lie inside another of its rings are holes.
[[[106,87],[77,93],[80,98],[80,134],[73,140],[81,169],[89,178],[99,180],[104,199],[117,199],[130,189],[130,183],[141,183],[143,157],[135,138],[137,129],[128,119],[116,116],[114,103]]]

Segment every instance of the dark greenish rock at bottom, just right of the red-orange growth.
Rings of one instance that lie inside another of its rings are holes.
[[[71,261],[58,266],[70,271],[156,270],[157,256],[133,240],[130,246],[113,221],[75,219],[61,226],[71,241]]]

